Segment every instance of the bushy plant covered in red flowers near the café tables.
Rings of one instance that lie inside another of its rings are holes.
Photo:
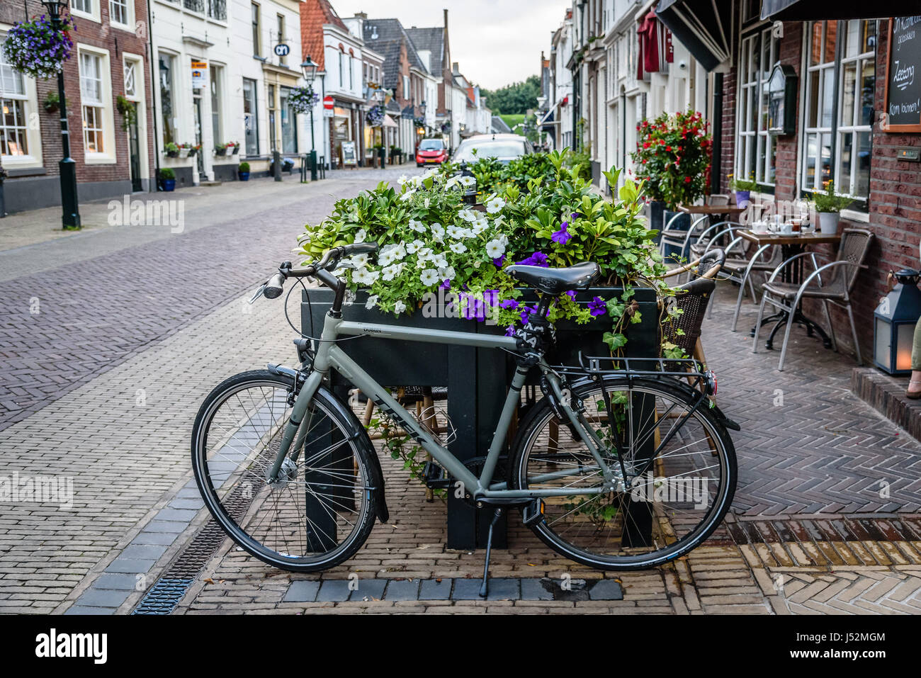
[[[646,195],[670,209],[693,205],[710,186],[713,141],[699,112],[662,113],[636,125],[636,150],[630,156]]]

